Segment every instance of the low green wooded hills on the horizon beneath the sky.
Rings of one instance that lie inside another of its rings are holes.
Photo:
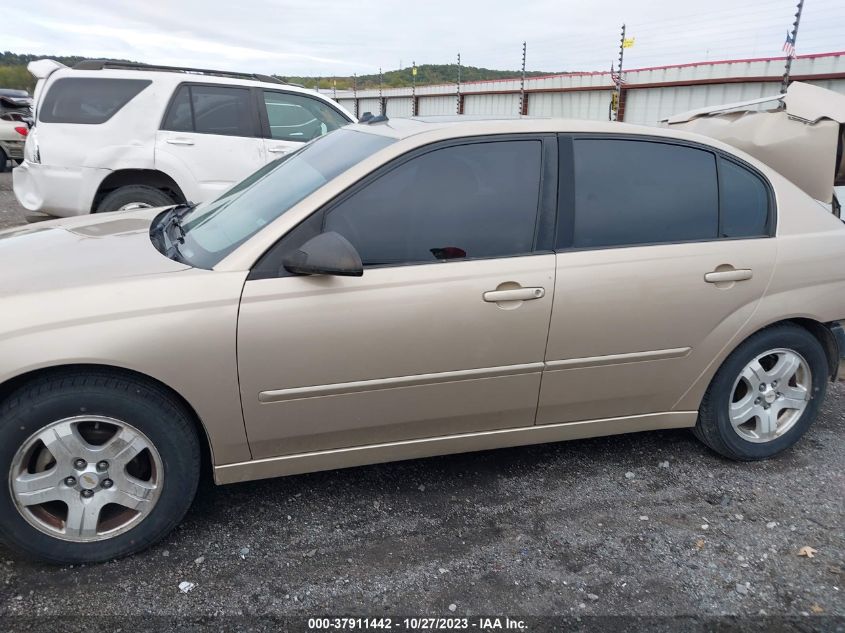
[[[78,56],[29,55],[11,53],[9,51],[0,53],[0,88],[18,88],[32,92],[35,87],[35,78],[26,70],[26,65],[33,60],[43,59],[45,57],[55,59],[66,66],[73,66],[74,64],[86,59],[85,57]],[[532,71],[526,73],[529,77],[548,74],[550,73],[545,71]],[[345,90],[351,89],[353,84],[352,77],[295,77],[292,75],[285,75],[284,73],[277,73],[276,76],[281,77],[286,81],[302,84],[308,88],[314,88],[317,86],[320,88],[331,89],[332,86],[335,85],[338,90]],[[457,76],[457,64],[422,64],[417,66],[418,86],[452,83],[457,79]],[[483,81],[486,79],[507,79],[513,77],[519,77],[518,70],[493,70],[490,68],[476,68],[475,66],[461,66],[461,81]],[[410,68],[389,70],[384,72],[382,75],[382,85],[385,88],[410,86],[412,81],[413,78]],[[357,85],[359,89],[378,88],[379,77],[377,74],[361,75],[357,78]]]

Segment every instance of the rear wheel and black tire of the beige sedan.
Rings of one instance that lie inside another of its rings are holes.
[[[713,377],[693,432],[730,459],[773,457],[816,420],[829,373],[824,349],[804,328],[785,324],[762,330],[734,350]],[[752,417],[741,422],[749,412]]]

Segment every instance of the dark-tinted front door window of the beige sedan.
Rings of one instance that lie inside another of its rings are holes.
[[[529,253],[540,141],[476,143],[411,159],[326,215],[365,265]]]

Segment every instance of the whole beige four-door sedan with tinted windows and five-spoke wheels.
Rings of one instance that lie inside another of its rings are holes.
[[[651,429],[792,446],[845,350],[845,225],[729,145],[387,121],[197,207],[0,234],[0,535],[136,552],[217,483]]]

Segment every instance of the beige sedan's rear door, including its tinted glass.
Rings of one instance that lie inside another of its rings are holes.
[[[537,422],[670,412],[763,296],[776,256],[770,188],[698,146],[562,137],[560,148]]]

